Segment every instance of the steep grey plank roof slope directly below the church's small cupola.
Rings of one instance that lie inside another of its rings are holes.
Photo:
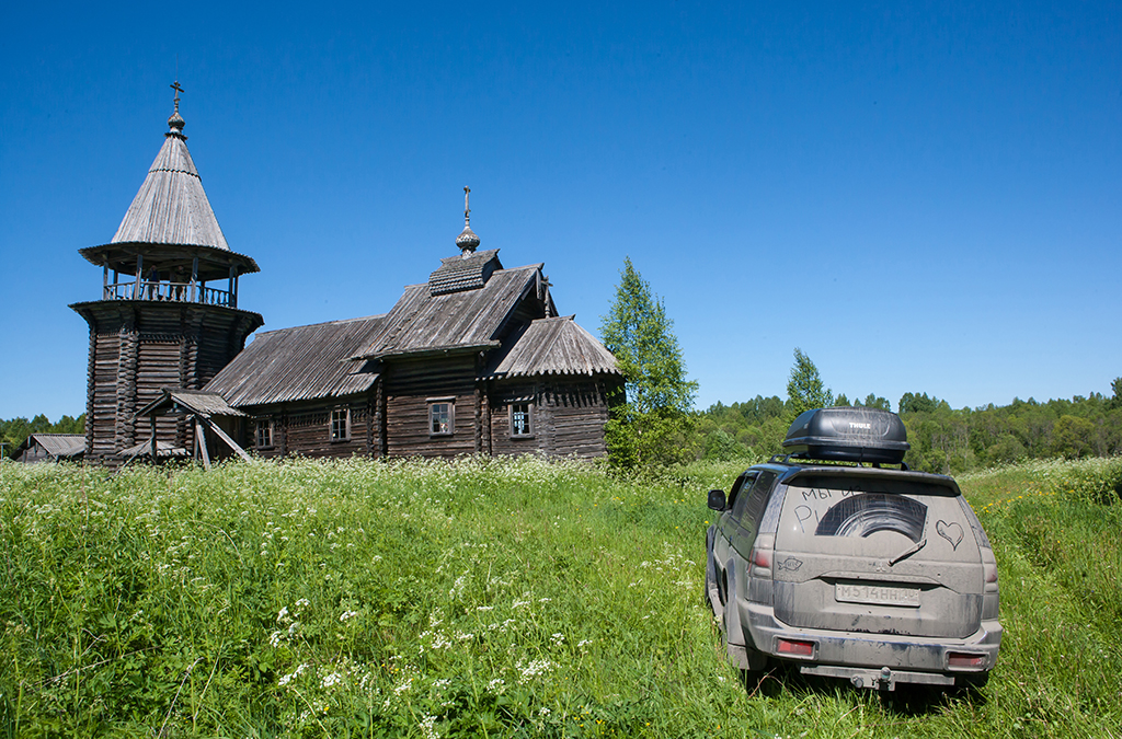
[[[410,285],[353,358],[497,348],[518,302],[541,284],[541,267],[497,269],[481,287],[440,295],[429,284]]]

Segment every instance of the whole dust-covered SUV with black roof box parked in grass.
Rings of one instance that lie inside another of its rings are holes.
[[[984,683],[997,563],[957,483],[908,469],[886,410],[808,410],[783,449],[709,492],[706,595],[734,664],[882,691]]]

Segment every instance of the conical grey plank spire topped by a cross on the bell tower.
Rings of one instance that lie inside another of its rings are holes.
[[[180,116],[182,89],[175,87],[175,111],[167,119],[171,130],[132,198],[125,220],[110,243],[176,243],[230,250],[211,209],[195,163],[187,151]]]

